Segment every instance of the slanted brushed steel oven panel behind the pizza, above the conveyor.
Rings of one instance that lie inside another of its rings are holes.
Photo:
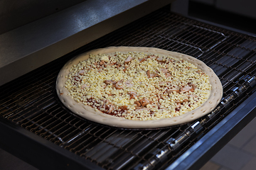
[[[170,4],[87,0],[0,35],[0,85]]]

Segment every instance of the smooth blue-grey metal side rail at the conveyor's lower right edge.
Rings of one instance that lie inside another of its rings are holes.
[[[255,118],[255,102],[256,94],[254,93],[184,152],[166,170],[200,169],[203,164],[208,162],[214,154],[242,130],[247,123],[250,123],[250,120]]]

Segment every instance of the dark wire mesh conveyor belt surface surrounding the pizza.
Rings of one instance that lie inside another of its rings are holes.
[[[160,130],[110,128],[73,115],[55,96],[70,58],[108,46],[159,47],[203,60],[223,84],[223,100],[193,123]],[[256,39],[161,9],[0,87],[0,118],[104,169],[164,169],[255,89]]]

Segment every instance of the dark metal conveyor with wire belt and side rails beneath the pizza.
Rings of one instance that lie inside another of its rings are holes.
[[[54,87],[63,64],[90,49],[119,45],[159,47],[198,57],[218,74],[222,101],[194,122],[143,131],[90,123],[61,106]],[[161,8],[1,86],[0,147],[48,170],[65,169],[65,162],[69,169],[95,169],[90,163],[105,169],[199,169],[255,118],[255,48],[253,37]],[[33,157],[39,152],[40,158]]]

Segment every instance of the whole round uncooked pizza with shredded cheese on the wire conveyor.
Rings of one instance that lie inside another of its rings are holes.
[[[212,69],[152,47],[85,52],[60,70],[60,101],[82,118],[119,128],[164,128],[213,111],[223,95]]]

